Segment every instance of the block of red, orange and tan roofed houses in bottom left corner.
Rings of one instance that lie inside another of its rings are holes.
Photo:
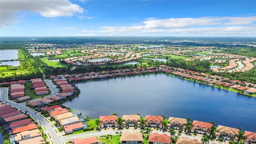
[[[44,144],[38,126],[22,111],[1,102],[0,117],[11,144]]]

